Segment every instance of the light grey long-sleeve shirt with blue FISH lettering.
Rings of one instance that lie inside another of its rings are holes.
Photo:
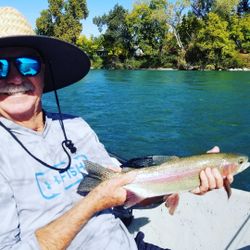
[[[42,132],[0,121],[27,150],[47,164],[65,168],[68,158],[59,116],[46,113]],[[79,117],[63,116],[67,137],[77,147],[68,171],[45,167],[0,126],[0,249],[39,249],[35,231],[74,206],[82,197],[76,190],[85,172],[84,160],[114,166],[94,131]],[[137,249],[133,237],[109,210],[93,216],[68,249]]]

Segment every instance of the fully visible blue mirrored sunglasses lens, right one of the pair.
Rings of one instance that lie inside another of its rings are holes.
[[[40,72],[41,64],[36,58],[19,57],[16,59],[16,67],[23,76],[35,76]]]

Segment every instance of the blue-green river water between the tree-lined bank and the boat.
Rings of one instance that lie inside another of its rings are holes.
[[[250,72],[92,70],[59,96],[64,113],[82,116],[123,158],[185,156],[214,145],[250,156]],[[52,94],[44,105],[56,110]],[[250,169],[234,187],[250,191]]]

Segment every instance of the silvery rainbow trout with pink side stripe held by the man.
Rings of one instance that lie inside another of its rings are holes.
[[[169,157],[160,164],[143,168],[129,168],[122,172],[105,168],[91,161],[84,161],[88,174],[80,182],[77,192],[85,195],[100,182],[133,171],[135,179],[124,186],[127,191],[125,208],[143,204],[150,198],[163,197],[172,193],[187,192],[200,185],[200,172],[206,168],[217,168],[224,178],[228,198],[230,183],[226,176],[236,175],[250,166],[248,156],[234,153],[207,153],[187,157]],[[146,202],[147,203],[147,202]]]

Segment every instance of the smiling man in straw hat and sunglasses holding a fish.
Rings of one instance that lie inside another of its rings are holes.
[[[42,109],[43,93],[87,74],[88,57],[71,44],[36,36],[8,7],[0,8],[0,48],[0,249],[137,249],[107,210],[125,202],[123,185],[134,176],[80,197],[85,159],[119,167],[81,118]],[[223,185],[215,170],[200,177],[196,193]]]

